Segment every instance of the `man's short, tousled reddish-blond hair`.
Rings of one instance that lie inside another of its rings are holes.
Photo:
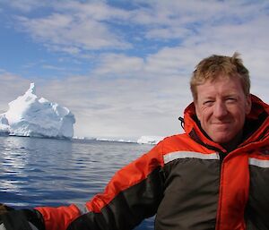
[[[190,89],[194,100],[197,99],[197,85],[204,84],[208,80],[214,81],[220,76],[239,77],[245,95],[249,94],[250,79],[248,70],[239,57],[239,53],[235,52],[232,56],[211,55],[197,64],[190,81]]]

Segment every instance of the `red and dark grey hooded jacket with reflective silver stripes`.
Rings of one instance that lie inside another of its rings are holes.
[[[36,209],[47,230],[127,230],[153,215],[156,230],[269,229],[268,114],[252,96],[244,140],[227,152],[204,135],[191,104],[184,134],[123,167],[84,207]]]

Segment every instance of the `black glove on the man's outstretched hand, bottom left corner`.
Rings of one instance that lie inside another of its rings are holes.
[[[0,215],[0,230],[45,230],[45,226],[38,210],[20,209]]]

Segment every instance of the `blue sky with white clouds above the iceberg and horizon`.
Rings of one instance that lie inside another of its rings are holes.
[[[35,82],[74,136],[182,132],[190,76],[213,54],[239,52],[268,103],[266,0],[0,0],[0,21],[0,113]]]

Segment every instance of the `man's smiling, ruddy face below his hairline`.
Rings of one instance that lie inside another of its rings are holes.
[[[238,77],[219,76],[197,86],[195,112],[204,132],[214,142],[233,141],[242,132],[250,109],[250,96],[244,94]]]

